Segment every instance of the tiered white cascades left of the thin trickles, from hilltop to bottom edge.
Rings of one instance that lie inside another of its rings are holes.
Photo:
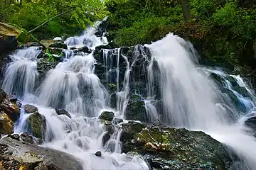
[[[7,69],[3,87],[9,94],[18,94],[23,103],[33,103],[46,118],[43,147],[73,154],[82,161],[84,169],[149,169],[140,157],[122,154],[119,129],[114,128],[106,144],[102,142],[107,131],[97,117],[102,111],[109,110],[108,92],[94,74],[93,52],[75,55],[70,50],[84,45],[94,50],[97,45],[105,44],[105,38],[92,35],[94,32],[89,28],[85,35],[66,40],[69,50],[65,51],[65,60],[48,71],[46,79],[36,90],[38,50],[34,47],[18,50],[11,56],[13,62]],[[24,98],[27,94],[33,95],[33,99]],[[53,108],[65,108],[72,118],[57,115]],[[28,130],[28,118],[28,114],[21,113],[15,132]],[[102,152],[102,157],[95,156],[97,151]]]

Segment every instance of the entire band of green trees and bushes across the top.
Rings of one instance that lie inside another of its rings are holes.
[[[68,11],[35,30],[38,39],[78,34],[108,16],[109,39],[119,46],[173,32],[207,63],[256,68],[255,0],[2,0],[0,10],[0,21],[26,31]]]

